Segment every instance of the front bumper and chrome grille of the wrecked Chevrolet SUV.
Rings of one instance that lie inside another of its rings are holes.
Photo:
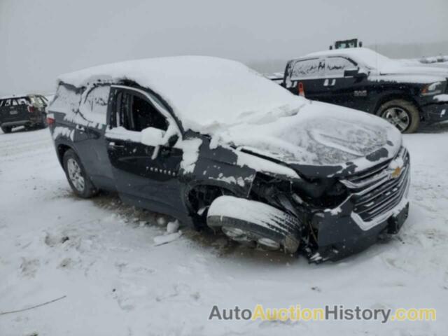
[[[391,162],[342,183],[351,195],[339,207],[316,212],[311,220],[317,232],[317,248],[308,255],[311,262],[339,260],[362,251],[381,234],[397,233],[407,218],[410,160],[404,147]]]

